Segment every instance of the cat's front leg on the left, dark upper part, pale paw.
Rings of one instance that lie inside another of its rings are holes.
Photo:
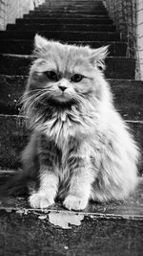
[[[54,203],[58,189],[58,177],[55,174],[57,151],[45,136],[39,140],[39,188],[32,193],[30,203],[33,208],[47,208]]]

